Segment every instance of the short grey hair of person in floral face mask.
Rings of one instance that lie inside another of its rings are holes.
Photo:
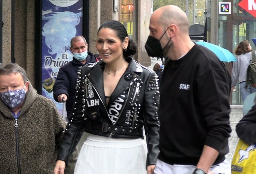
[[[26,76],[26,71],[22,67],[20,67],[17,63],[8,63],[4,67],[0,68],[0,76],[10,75],[12,73],[17,73],[17,72],[21,74],[24,80],[24,83],[26,83],[26,81],[28,81]]]

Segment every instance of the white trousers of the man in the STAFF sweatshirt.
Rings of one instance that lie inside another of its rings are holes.
[[[157,159],[154,174],[192,174],[195,168],[194,165],[170,165]],[[210,171],[214,174],[231,174],[231,165],[225,159],[222,163],[213,165]]]

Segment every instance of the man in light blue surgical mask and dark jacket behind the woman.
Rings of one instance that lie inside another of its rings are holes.
[[[55,84],[53,97],[56,102],[66,102],[67,116],[71,115],[75,100],[75,84],[78,78],[77,71],[87,63],[97,62],[95,55],[88,51],[88,44],[83,36],[75,36],[70,41],[70,50],[73,60],[60,67]]]

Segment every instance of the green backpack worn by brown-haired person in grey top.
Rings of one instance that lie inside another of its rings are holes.
[[[251,83],[252,87],[256,87],[256,54],[255,51],[252,51],[252,62],[247,68],[246,74],[246,84],[245,87],[247,88],[249,83]]]

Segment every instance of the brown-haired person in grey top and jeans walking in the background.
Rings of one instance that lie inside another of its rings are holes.
[[[234,54],[236,54],[237,61],[233,62],[233,69],[232,69],[232,87],[231,91],[234,90],[236,87],[237,82],[239,83],[239,90],[243,99],[256,92],[256,88],[252,87],[250,84],[246,88],[246,74],[247,68],[252,60],[252,46],[248,40],[243,40],[235,48]]]

